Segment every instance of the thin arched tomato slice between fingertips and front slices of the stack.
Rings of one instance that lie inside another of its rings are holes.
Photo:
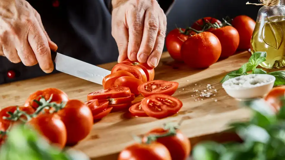
[[[132,73],[135,78],[140,79],[143,82],[147,81],[145,71],[143,71],[143,69],[139,66],[130,66],[123,63],[119,63],[113,67],[111,73],[115,73],[117,71],[127,71],[129,73]]]

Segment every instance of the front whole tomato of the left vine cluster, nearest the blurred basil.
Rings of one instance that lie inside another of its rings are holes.
[[[39,134],[47,138],[50,143],[64,148],[67,136],[66,128],[57,114],[41,114],[32,118],[28,124],[34,127]]]

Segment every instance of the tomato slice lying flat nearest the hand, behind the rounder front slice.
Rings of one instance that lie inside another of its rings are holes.
[[[144,97],[154,94],[173,95],[178,85],[177,82],[154,80],[141,84],[137,89]]]

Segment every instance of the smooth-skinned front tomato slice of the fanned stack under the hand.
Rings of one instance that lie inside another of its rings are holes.
[[[132,93],[135,95],[139,95],[140,92],[137,90],[137,87],[139,85],[143,84],[143,81],[136,79],[134,77],[127,77],[123,76],[115,80],[114,85],[115,86],[124,86],[124,87],[129,87]]]

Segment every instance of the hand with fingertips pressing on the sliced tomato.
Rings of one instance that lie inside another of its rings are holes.
[[[164,47],[166,16],[156,0],[112,0],[112,35],[126,58],[156,67]]]

